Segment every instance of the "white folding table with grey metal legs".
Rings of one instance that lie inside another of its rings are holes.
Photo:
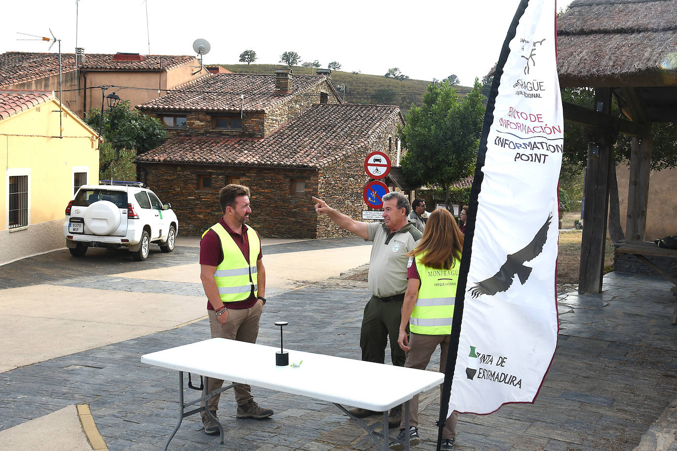
[[[404,403],[402,414],[406,417],[406,427],[409,429],[409,401],[414,395],[436,387],[444,380],[442,373],[433,371],[287,349],[285,352],[289,353],[290,363],[299,363],[301,360],[303,363],[297,368],[276,366],[275,354],[279,350],[270,346],[213,338],[141,356],[141,362],[179,371],[179,421],[163,449],[167,450],[183,418],[204,410],[204,407],[186,410],[188,406],[199,404],[232,387],[231,384],[208,393],[205,381],[201,398],[183,402],[184,371],[205,378],[215,377],[332,402],[368,431],[384,451],[389,449],[388,411]],[[344,405],[383,412],[383,431],[374,431],[370,425],[350,414]],[[209,414],[209,410],[206,412]],[[223,427],[218,421],[215,423],[219,427],[223,444]],[[404,445],[408,450],[408,434]]]

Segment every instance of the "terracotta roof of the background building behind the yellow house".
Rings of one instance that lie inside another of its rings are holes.
[[[114,61],[112,54],[86,53],[85,70],[166,70],[195,59],[192,56],[146,55],[145,61]],[[75,70],[75,54],[61,54],[62,73]],[[0,88],[59,73],[58,53],[9,51],[0,55]]]

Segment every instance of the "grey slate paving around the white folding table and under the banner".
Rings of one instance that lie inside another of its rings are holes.
[[[332,245],[358,241],[362,240],[336,240]],[[303,243],[280,246],[309,250]],[[280,249],[284,247],[276,247]],[[195,261],[196,250],[177,251],[177,261]],[[160,257],[165,256],[158,253],[147,262]],[[129,279],[121,284],[105,277],[122,272],[119,267],[99,272],[92,275],[83,268],[79,277],[61,279],[55,273],[51,281],[74,286],[105,281],[109,289],[128,289]],[[150,289],[143,282],[133,290]],[[461,415],[457,450],[633,450],[671,403],[677,407],[677,339],[676,328],[670,324],[674,308],[670,285],[662,279],[612,273],[605,277],[604,286],[600,295],[559,295],[559,343],[538,399],[534,404],[508,404],[491,415]],[[203,296],[196,287],[170,285],[168,289]],[[359,358],[359,326],[369,298],[366,283],[329,279],[280,290],[267,298],[259,343],[276,345],[279,329],[273,323],[284,320],[289,322],[285,328],[288,348]],[[87,403],[111,451],[161,449],[177,421],[178,373],[141,364],[139,357],[207,338],[207,321],[198,321],[0,373],[0,430],[71,404]],[[437,371],[438,364],[439,355],[433,356],[429,369]],[[225,444],[219,444],[218,436],[204,435],[199,417],[191,417],[183,421],[169,449],[374,448],[362,429],[332,404],[257,387],[253,394],[276,414],[263,421],[238,420],[232,394],[226,392],[219,409]],[[422,442],[414,449],[435,447],[438,394],[433,389],[422,396]],[[196,398],[198,391],[186,388],[185,396]]]

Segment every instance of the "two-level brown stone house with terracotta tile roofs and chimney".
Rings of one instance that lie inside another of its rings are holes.
[[[311,196],[361,218],[369,180],[364,160],[380,150],[395,162],[403,124],[396,106],[340,103],[326,76],[290,71],[215,74],[139,109],[182,118],[167,142],[137,157],[137,171],[139,181],[171,202],[181,233],[189,235],[219,220],[219,189],[241,183],[252,193],[250,224],[263,237],[350,236],[315,213]],[[216,118],[240,115],[240,130],[215,127]]]

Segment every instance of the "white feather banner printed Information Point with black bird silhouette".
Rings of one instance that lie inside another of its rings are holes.
[[[555,0],[523,0],[480,142],[448,412],[487,414],[508,402],[533,402],[554,356],[563,151],[555,37]]]

